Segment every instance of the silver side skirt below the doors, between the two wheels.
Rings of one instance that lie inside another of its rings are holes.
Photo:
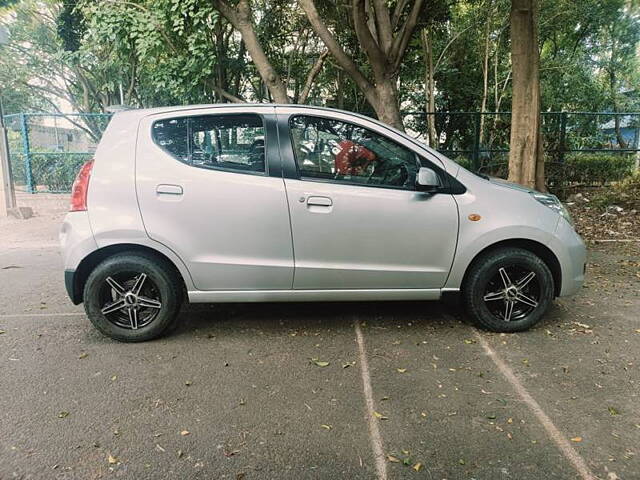
[[[359,302],[375,300],[439,300],[441,290],[375,289],[375,290],[215,290],[190,291],[191,303],[234,302]]]

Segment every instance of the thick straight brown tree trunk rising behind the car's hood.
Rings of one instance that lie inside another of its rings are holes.
[[[540,136],[538,0],[511,0],[513,105],[509,180],[544,190],[544,153]]]

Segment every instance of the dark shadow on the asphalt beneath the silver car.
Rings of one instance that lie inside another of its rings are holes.
[[[552,323],[566,320],[567,316],[566,309],[555,301],[542,322],[519,335],[544,330]],[[320,329],[351,335],[356,320],[362,325],[383,329],[420,324],[431,333],[473,327],[456,297],[440,301],[203,303],[183,305],[175,330],[150,342],[184,341],[213,335],[237,336],[238,333],[256,330],[268,336]],[[91,331],[88,334],[91,343],[119,343],[94,329]]]

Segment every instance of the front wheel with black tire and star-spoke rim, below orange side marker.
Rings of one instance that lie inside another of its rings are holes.
[[[473,322],[492,332],[521,332],[537,324],[554,297],[549,267],[528,250],[501,248],[475,260],[462,298]]]

